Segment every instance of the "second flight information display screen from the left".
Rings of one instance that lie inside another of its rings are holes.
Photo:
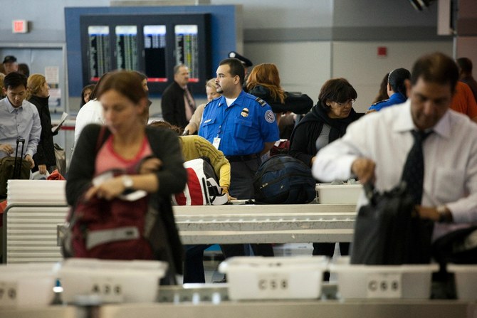
[[[116,26],[116,68],[139,70],[137,58],[137,26]]]

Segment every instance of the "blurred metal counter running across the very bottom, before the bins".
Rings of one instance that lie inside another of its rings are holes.
[[[0,318],[477,318],[475,301],[335,300],[335,288],[323,286],[320,300],[231,301],[226,284],[161,287],[154,303],[1,308]]]

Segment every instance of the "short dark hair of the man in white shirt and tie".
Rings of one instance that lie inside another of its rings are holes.
[[[436,52],[424,55],[416,60],[412,67],[411,84],[416,85],[419,78],[428,83],[449,84],[451,92],[454,94],[458,80],[457,64],[444,53]]]

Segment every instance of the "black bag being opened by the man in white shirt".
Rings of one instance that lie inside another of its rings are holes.
[[[365,184],[369,204],[355,222],[351,263],[366,265],[428,264],[434,221],[419,218],[404,184],[378,193]]]

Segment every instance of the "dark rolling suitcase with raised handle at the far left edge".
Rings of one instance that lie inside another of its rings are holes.
[[[21,153],[19,157],[19,145]],[[30,179],[30,161],[23,159],[25,139],[16,139],[15,157],[0,159],[0,198],[6,198],[6,184],[9,179]]]

